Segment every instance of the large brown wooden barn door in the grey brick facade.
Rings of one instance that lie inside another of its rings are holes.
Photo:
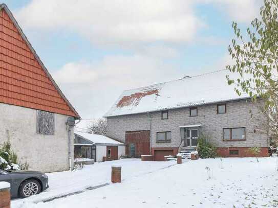
[[[125,132],[125,144],[125,154],[130,157],[140,158],[141,155],[151,154],[148,130]]]

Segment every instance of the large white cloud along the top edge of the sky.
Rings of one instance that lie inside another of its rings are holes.
[[[24,28],[65,28],[100,44],[187,42],[202,25],[192,2],[33,0],[16,17]]]

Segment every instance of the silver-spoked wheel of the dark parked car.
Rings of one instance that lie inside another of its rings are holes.
[[[23,198],[36,195],[39,192],[40,183],[33,179],[24,181],[19,188],[19,194]]]

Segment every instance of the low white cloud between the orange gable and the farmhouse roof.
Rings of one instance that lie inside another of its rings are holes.
[[[52,75],[84,119],[102,117],[125,89],[182,77],[175,65],[142,55],[67,63]]]

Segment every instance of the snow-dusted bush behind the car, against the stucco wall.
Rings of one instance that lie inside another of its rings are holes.
[[[5,142],[0,148],[0,169],[20,170],[20,165],[17,163],[17,155],[11,150],[9,142]]]

